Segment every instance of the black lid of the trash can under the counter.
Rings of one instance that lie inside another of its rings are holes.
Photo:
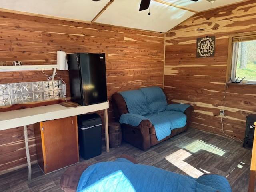
[[[77,119],[78,127],[80,128],[92,127],[102,124],[102,120],[97,113],[80,115]]]

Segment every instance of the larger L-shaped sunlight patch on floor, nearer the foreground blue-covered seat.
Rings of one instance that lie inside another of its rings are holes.
[[[191,177],[198,178],[199,176],[203,175],[204,173],[200,170],[197,170],[187,162],[184,162],[186,158],[191,156],[192,154],[185,151],[184,149],[180,149],[168,156],[165,157],[166,160],[168,160],[171,164],[178,167],[180,170],[185,172]]]

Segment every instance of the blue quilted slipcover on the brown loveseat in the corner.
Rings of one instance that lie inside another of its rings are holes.
[[[169,136],[173,129],[186,125],[186,115],[183,112],[190,105],[167,105],[166,96],[159,87],[146,87],[120,94],[129,111],[120,117],[121,124],[138,126],[142,120],[148,119],[155,127],[158,141]]]

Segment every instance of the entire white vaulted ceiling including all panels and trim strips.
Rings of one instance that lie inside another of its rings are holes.
[[[0,0],[0,8],[123,26],[141,30],[167,32],[196,12],[218,8],[246,0],[216,0],[213,6],[206,0],[151,0],[149,10],[139,11],[141,0]],[[109,3],[110,2],[110,3]],[[104,10],[104,11],[102,11]],[[101,13],[101,14],[99,14]]]

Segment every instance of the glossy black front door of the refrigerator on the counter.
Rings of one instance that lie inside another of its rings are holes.
[[[107,101],[105,54],[80,53],[84,105]]]

